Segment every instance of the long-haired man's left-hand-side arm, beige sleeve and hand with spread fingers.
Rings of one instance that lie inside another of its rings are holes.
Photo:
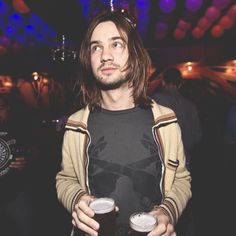
[[[99,224],[92,219],[94,212],[89,207],[89,203],[94,197],[87,193],[84,173],[82,173],[82,169],[79,170],[79,166],[81,167],[84,162],[84,159],[81,159],[77,153],[79,150],[81,155],[83,154],[83,149],[78,142],[81,136],[70,130],[64,134],[61,171],[56,175],[57,196],[72,214],[72,224],[76,228],[89,235],[97,235],[96,230],[99,228]]]

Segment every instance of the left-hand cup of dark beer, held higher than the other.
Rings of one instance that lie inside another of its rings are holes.
[[[115,236],[116,213],[112,198],[97,198],[89,205],[95,212],[94,219],[99,223],[99,236]]]

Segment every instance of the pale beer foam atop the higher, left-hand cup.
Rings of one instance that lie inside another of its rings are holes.
[[[114,200],[110,198],[98,198],[89,205],[95,214],[105,214],[114,209]]]

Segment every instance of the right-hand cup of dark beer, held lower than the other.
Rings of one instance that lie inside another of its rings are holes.
[[[156,226],[157,220],[154,216],[146,212],[135,212],[129,218],[129,235],[146,236]]]

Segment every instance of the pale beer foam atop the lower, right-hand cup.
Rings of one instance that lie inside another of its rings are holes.
[[[149,232],[154,228],[156,219],[152,215],[138,213],[131,216],[130,222],[134,230],[138,232]]]

